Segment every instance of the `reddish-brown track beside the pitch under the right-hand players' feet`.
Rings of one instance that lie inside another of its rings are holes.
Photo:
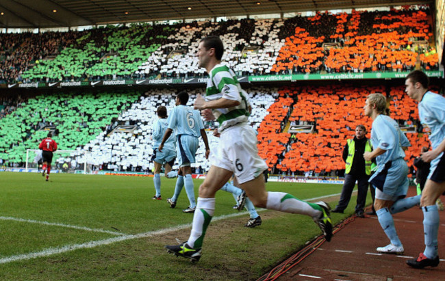
[[[415,189],[409,189],[409,196]],[[445,196],[442,196],[445,202]],[[351,204],[353,204],[351,202]],[[394,215],[403,256],[379,254],[377,247],[389,243],[377,216],[356,217],[319,245],[312,254],[281,276],[268,280],[445,280],[445,211],[440,211],[438,267],[413,269],[406,260],[424,250],[423,213],[418,206]]]

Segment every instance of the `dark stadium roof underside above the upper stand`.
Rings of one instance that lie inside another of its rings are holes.
[[[403,0],[1,0],[0,28],[49,28],[434,3]],[[53,12],[56,10],[57,12]]]

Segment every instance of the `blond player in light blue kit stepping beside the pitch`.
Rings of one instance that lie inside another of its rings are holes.
[[[405,198],[408,191],[408,165],[403,147],[411,146],[396,121],[385,115],[386,98],[383,94],[370,94],[364,107],[365,115],[372,122],[371,142],[374,150],[365,152],[365,161],[376,158],[377,171],[370,177],[374,185],[375,202],[379,223],[390,244],[377,247],[377,252],[403,254],[392,214],[405,211],[420,202],[420,196]]]

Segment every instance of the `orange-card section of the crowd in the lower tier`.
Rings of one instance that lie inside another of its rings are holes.
[[[358,124],[370,132],[372,120],[364,116],[363,107],[372,92],[387,96],[388,113],[407,131],[412,146],[405,152],[405,160],[412,167],[428,139],[416,131],[417,106],[407,98],[403,86],[289,86],[279,90],[280,97],[269,107],[270,113],[258,129],[259,155],[266,159],[271,174],[342,176],[344,142],[354,135]],[[308,125],[312,130],[289,133],[283,124]]]

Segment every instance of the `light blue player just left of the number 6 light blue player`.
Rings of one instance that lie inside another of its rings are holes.
[[[158,119],[153,124],[153,163],[155,164],[154,178],[153,182],[155,184],[156,194],[153,196],[153,200],[162,200],[161,198],[161,177],[160,172],[162,165],[165,167],[165,175],[167,177],[172,170],[173,163],[175,163],[176,159],[176,137],[175,135],[171,135],[168,137],[167,141],[164,144],[164,150],[161,152],[158,150],[159,145],[161,144],[162,137],[164,137],[164,133],[167,129],[167,109],[166,107],[160,106],[157,107],[156,110]]]

